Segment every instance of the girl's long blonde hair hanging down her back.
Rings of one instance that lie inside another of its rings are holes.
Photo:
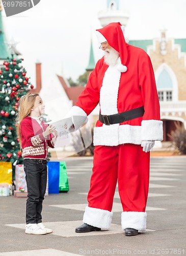
[[[16,132],[17,138],[19,139],[19,145],[21,149],[21,133],[20,133],[20,124],[24,117],[28,116],[31,113],[31,110],[34,106],[36,97],[39,96],[38,93],[29,93],[23,95],[19,100],[19,109],[16,117]]]

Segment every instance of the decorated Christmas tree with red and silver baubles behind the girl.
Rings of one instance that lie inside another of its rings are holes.
[[[14,166],[23,162],[15,126],[18,101],[34,88],[22,61],[22,58],[16,59],[12,54],[0,70],[0,161],[12,162],[13,173]]]

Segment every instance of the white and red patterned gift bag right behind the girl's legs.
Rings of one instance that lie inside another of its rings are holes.
[[[23,168],[23,164],[17,164],[15,166],[15,187],[16,190],[24,189],[27,191],[26,180],[25,180],[25,172]]]

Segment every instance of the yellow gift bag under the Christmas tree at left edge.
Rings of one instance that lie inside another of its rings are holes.
[[[0,162],[0,183],[12,185],[12,163]]]

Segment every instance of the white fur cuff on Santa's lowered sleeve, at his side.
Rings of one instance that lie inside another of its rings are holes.
[[[163,121],[143,120],[142,140],[163,140]]]

